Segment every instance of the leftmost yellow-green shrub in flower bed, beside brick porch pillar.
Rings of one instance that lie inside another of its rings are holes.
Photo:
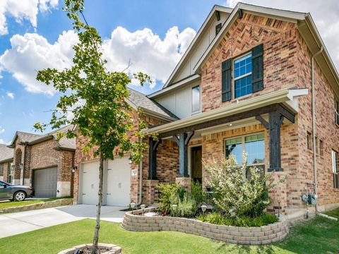
[[[180,186],[178,183],[165,183],[159,184],[159,191],[160,191],[160,197],[159,197],[159,212],[163,212],[165,214],[169,213],[169,210],[171,209],[171,196],[177,195],[180,193]]]

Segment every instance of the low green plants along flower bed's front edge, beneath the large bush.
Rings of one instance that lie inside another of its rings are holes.
[[[198,220],[201,222],[209,222],[212,224],[226,225],[226,226],[265,226],[278,222],[279,219],[274,214],[261,214],[258,217],[234,217],[229,218],[220,212],[211,212],[205,216],[199,216]]]

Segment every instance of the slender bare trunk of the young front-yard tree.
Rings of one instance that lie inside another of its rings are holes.
[[[94,231],[94,237],[93,237],[93,250],[92,250],[92,254],[96,254],[97,253],[97,242],[99,240],[103,178],[104,178],[104,159],[102,157],[102,152],[100,152],[99,191],[97,192],[97,195],[98,195],[98,200],[97,200],[97,224],[95,225],[95,231]]]

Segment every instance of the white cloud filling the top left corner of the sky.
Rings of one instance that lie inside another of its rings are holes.
[[[1,0],[0,1],[0,35],[8,34],[7,17],[15,18],[17,23],[28,20],[37,28],[38,11],[56,8],[58,0]]]

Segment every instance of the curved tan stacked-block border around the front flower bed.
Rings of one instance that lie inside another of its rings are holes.
[[[154,208],[146,209],[150,212]],[[178,231],[186,234],[205,236],[227,243],[261,245],[280,241],[287,236],[287,222],[267,226],[239,227],[210,224],[196,219],[142,215],[141,210],[126,212],[121,226],[129,231]]]

